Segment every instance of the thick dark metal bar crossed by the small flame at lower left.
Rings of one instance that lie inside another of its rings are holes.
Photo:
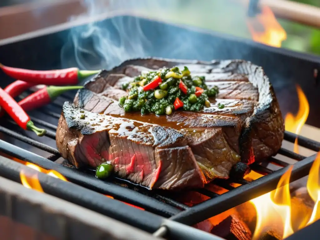
[[[2,144],[3,142],[1,142],[1,145]],[[137,228],[148,232],[154,232],[156,229],[160,228],[164,221],[162,217],[157,216],[156,214],[133,208],[120,201],[103,196],[102,194],[83,188],[71,182],[52,178],[49,175],[37,172],[10,159],[3,158],[2,161],[0,161],[1,175],[10,180],[20,182],[20,171],[22,169],[26,175],[37,174],[44,192],[60,197],[74,204],[78,204],[92,211],[105,214],[106,216]]]

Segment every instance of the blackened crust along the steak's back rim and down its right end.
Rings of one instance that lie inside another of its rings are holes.
[[[106,79],[108,75],[126,74],[126,76],[136,76],[128,74],[132,66],[141,66],[147,69],[158,69],[162,67],[184,66],[188,64],[199,69],[204,73],[209,81],[238,81],[246,83],[247,80],[258,88],[258,104],[255,105],[254,113],[247,117],[245,125],[239,139],[239,145],[244,146],[241,149],[241,160],[250,163],[252,159],[250,149],[253,148],[256,161],[264,160],[269,156],[273,156],[281,147],[284,138],[284,120],[281,115],[278,101],[268,76],[265,75],[263,69],[250,61],[244,60],[212,60],[196,61],[196,60],[173,60],[160,58],[141,58],[124,61],[118,67],[110,71],[101,71],[100,77]],[[203,70],[204,69],[204,70]],[[140,72],[139,72],[140,74]],[[223,77],[208,78],[210,74],[222,74]],[[88,84],[95,80],[90,80],[85,84],[86,88],[90,88]]]

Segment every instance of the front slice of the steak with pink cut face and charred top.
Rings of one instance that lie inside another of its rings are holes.
[[[57,147],[77,167],[110,161],[120,177],[149,188],[204,184],[203,173],[181,133],[88,112],[68,102],[59,119]]]

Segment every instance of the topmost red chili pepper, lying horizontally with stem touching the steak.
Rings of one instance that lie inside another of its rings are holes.
[[[78,68],[37,71],[22,68],[12,68],[2,64],[0,64],[0,68],[4,71],[4,73],[14,79],[20,79],[28,83],[45,85],[75,85],[79,80],[100,72],[100,70],[80,71]]]

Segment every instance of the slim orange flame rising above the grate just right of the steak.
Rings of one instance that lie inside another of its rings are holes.
[[[286,131],[294,132],[295,134],[299,135],[302,126],[307,121],[309,115],[309,103],[300,86],[297,85],[296,87],[299,99],[299,110],[296,116],[294,116],[292,113],[287,113],[284,118],[284,126]],[[294,141],[293,151],[295,153],[299,153],[298,138],[296,138]]]

